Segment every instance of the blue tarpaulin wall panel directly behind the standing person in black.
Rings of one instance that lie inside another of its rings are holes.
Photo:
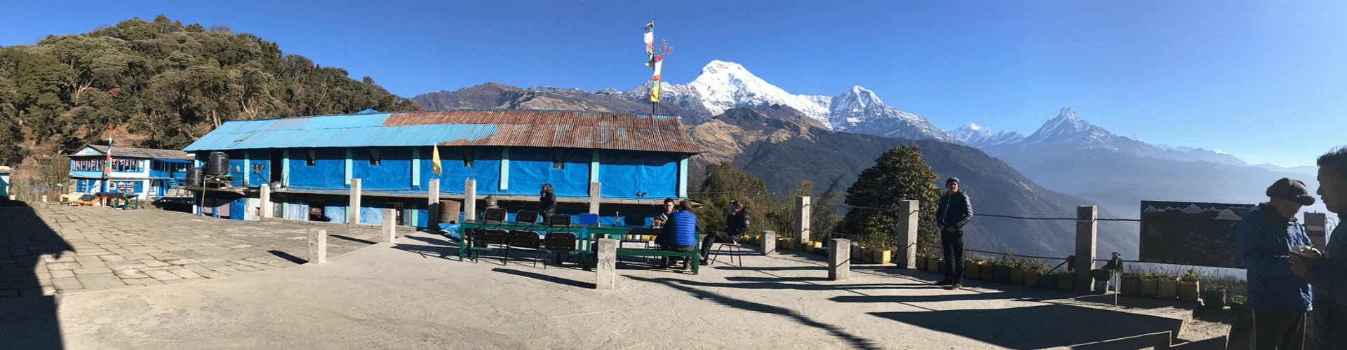
[[[556,195],[589,197],[589,149],[563,149],[564,166],[552,168],[555,148],[512,147],[509,149],[509,188],[501,193],[539,195],[543,183],[551,183]]]

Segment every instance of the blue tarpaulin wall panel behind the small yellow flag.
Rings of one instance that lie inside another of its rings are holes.
[[[463,182],[469,178],[477,180],[477,194],[485,197],[498,193],[501,180],[501,148],[500,147],[471,147],[473,166],[463,167],[463,147],[440,147],[439,163],[443,172],[439,175],[440,193],[463,193]],[[420,148],[420,188],[430,186],[431,148]]]

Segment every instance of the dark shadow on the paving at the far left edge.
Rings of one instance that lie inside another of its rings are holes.
[[[42,295],[36,265],[42,254],[61,257],[74,248],[42,222],[32,207],[15,201],[4,205],[0,206],[0,315],[4,315],[0,347],[65,349],[57,298]]]

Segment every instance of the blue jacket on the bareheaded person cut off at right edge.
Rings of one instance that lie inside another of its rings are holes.
[[[1319,349],[1347,349],[1347,230],[1338,225],[1328,238],[1324,261],[1305,272],[1315,285],[1315,342]]]

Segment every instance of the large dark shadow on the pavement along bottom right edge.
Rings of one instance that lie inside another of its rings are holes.
[[[929,299],[927,299],[929,300]],[[870,315],[1010,349],[1146,349],[1180,320],[1068,304]],[[1005,327],[1016,324],[1016,327]]]

